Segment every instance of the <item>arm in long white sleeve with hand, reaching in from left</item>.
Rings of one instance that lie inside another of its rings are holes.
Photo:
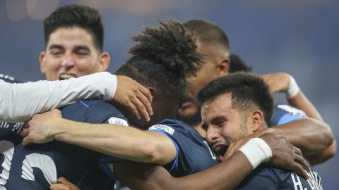
[[[152,115],[148,89],[128,77],[99,72],[62,81],[10,84],[0,80],[0,120],[23,122],[35,113],[90,98],[121,102],[139,118]]]

